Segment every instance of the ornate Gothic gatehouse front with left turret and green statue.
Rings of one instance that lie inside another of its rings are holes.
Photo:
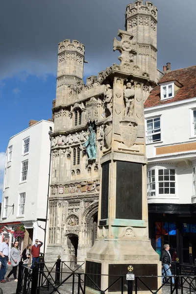
[[[84,45],[58,46],[47,260],[84,261],[97,236],[103,92],[96,76],[83,82]],[[94,147],[92,152],[92,146]]]

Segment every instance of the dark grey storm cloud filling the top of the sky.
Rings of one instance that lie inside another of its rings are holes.
[[[130,2],[133,2],[130,0]],[[158,8],[158,67],[196,64],[196,0],[154,0]],[[118,62],[113,38],[124,29],[128,0],[4,0],[0,5],[0,78],[56,74],[57,45],[86,48],[85,75]]]

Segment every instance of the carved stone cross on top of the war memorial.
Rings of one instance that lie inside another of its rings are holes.
[[[136,46],[132,44],[133,34],[119,30],[118,36],[121,38],[121,41],[114,38],[113,50],[119,50],[121,52],[121,56],[118,57],[121,65],[133,62],[133,56],[137,54]]]

